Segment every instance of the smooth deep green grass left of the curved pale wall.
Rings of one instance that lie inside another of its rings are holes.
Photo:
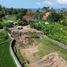
[[[7,32],[0,32],[0,67],[16,67],[9,51],[10,42]]]

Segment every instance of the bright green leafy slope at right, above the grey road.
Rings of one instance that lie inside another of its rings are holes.
[[[67,45],[67,27],[58,23],[44,24],[44,23],[31,23],[31,27],[44,32],[49,37],[58,40]]]

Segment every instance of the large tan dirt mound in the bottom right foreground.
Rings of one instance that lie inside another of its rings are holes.
[[[67,62],[55,52],[44,56],[40,61],[32,63],[29,67],[67,67]]]

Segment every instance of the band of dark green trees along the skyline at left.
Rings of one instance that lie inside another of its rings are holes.
[[[5,15],[22,15],[26,14],[26,9],[5,8],[0,5],[0,19]],[[20,13],[20,14],[19,14]]]

